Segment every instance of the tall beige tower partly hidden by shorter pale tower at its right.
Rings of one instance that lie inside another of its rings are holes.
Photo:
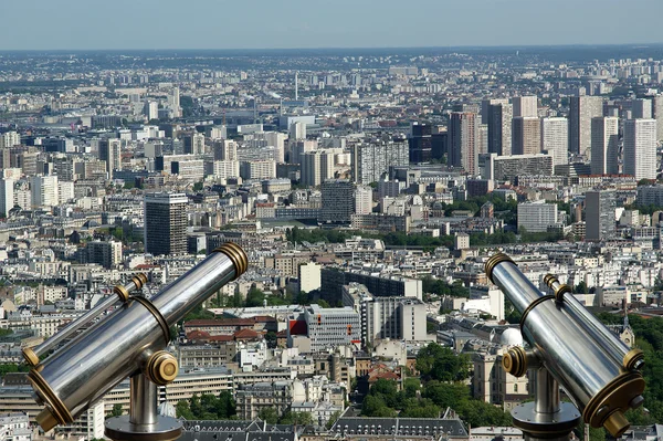
[[[591,118],[603,116],[603,98],[571,96],[569,107],[569,149],[590,159]]]

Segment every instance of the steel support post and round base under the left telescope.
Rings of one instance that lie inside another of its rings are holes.
[[[129,414],[106,420],[106,437],[113,441],[172,441],[182,432],[182,423],[157,413],[158,386],[144,374],[130,379]]]

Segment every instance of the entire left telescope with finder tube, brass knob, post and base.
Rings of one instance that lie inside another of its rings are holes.
[[[67,333],[65,337],[55,334],[28,350],[25,358],[34,366],[28,379],[38,403],[44,406],[36,422],[44,431],[72,423],[96,400],[130,377],[129,414],[106,420],[106,437],[123,441],[179,438],[181,422],[157,414],[158,386],[172,381],[178,372],[177,359],[164,350],[170,340],[170,326],[243,274],[248,264],[240,246],[224,243],[150,300],[128,295],[130,290],[145,283],[145,279],[136,277],[115,290],[118,297],[124,298],[119,307],[43,361],[39,361],[40,356],[77,330],[70,327],[80,328],[119,298],[104,301],[108,304],[95,307],[72,323],[74,326],[63,329]]]

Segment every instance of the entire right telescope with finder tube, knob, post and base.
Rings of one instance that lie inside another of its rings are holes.
[[[619,340],[554,275],[544,279],[551,292],[544,294],[503,253],[486,261],[485,272],[522,314],[530,347],[511,348],[502,359],[507,372],[529,369],[535,380],[535,400],[513,410],[514,426],[526,440],[568,439],[582,419],[620,437],[630,426],[624,412],[643,402],[642,351]],[[560,386],[572,405],[560,402]]]

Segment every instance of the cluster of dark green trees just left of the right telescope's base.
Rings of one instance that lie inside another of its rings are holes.
[[[440,418],[452,408],[472,427],[511,426],[511,416],[498,407],[473,399],[464,382],[470,376],[470,358],[435,343],[417,356],[420,378],[406,378],[402,390],[397,382],[378,379],[364,399],[366,417]]]

